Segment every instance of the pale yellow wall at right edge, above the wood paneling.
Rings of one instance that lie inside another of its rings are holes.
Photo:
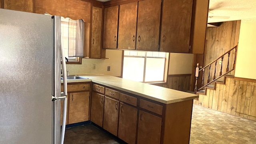
[[[256,18],[241,20],[235,77],[256,79]]]

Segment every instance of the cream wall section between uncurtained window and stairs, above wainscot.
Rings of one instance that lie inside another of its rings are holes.
[[[193,54],[170,53],[170,74],[191,74]]]

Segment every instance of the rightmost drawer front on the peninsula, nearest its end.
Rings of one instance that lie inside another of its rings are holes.
[[[155,104],[153,102],[149,102],[147,100],[140,99],[140,108],[144,108],[156,114],[162,115],[163,106],[159,104]]]

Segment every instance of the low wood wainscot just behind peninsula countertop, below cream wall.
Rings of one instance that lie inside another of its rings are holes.
[[[167,76],[166,84],[154,84],[165,88],[186,92],[190,90],[191,74],[174,74]]]

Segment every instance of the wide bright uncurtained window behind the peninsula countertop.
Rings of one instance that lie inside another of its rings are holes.
[[[138,82],[164,82],[166,52],[124,51],[123,78]]]

